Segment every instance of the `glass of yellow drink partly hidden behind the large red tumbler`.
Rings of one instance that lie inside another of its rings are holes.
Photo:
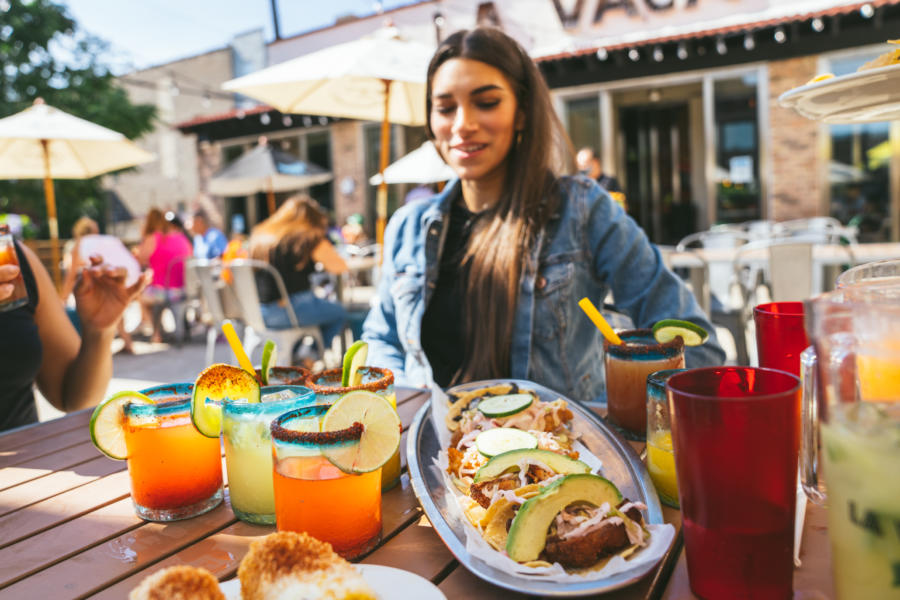
[[[647,471],[663,504],[678,508],[678,479],[672,452],[672,427],[666,381],[684,369],[666,369],[647,377]]]

